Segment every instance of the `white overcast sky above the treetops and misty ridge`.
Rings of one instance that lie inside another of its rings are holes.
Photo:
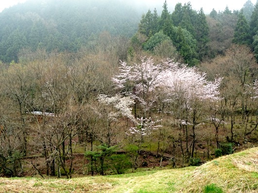
[[[8,8],[19,2],[21,3],[25,1],[26,0],[0,0],[0,12],[4,8]],[[165,0],[135,0],[135,1],[147,2],[146,6],[149,6],[150,9],[153,9],[154,7],[156,7],[157,9],[161,9]],[[240,10],[243,4],[247,0],[167,0],[169,11],[170,12],[173,11],[174,6],[177,2],[181,2],[182,4],[184,4],[189,1],[191,2],[192,8],[194,10],[198,11],[201,7],[203,7],[204,12],[208,14],[212,10],[212,8],[214,8],[216,11],[223,11],[226,6],[228,6],[231,11]],[[251,1],[255,4],[257,0],[251,0]]]

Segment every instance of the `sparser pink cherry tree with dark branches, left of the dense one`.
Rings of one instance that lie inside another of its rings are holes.
[[[158,76],[162,70],[161,64],[154,64],[152,58],[142,58],[140,64],[128,66],[120,62],[120,74],[112,80],[116,88],[120,88],[126,95],[131,96],[140,104],[141,116],[147,116],[146,112],[152,107],[154,99],[150,93],[158,84]],[[130,87],[131,90],[129,88]],[[124,92],[125,91],[125,92]]]

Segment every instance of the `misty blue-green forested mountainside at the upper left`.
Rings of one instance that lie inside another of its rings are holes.
[[[140,16],[120,0],[29,0],[0,13],[0,60],[17,62],[21,48],[77,51],[103,31],[131,37]]]

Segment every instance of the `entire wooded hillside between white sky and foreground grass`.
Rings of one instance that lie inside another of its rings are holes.
[[[0,13],[0,176],[184,167],[258,145],[258,4],[121,2]]]

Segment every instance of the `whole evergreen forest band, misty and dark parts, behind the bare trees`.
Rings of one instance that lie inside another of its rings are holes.
[[[156,9],[136,9],[121,0],[29,0],[0,13],[0,60],[18,62],[22,48],[48,52],[92,48],[101,32],[128,40],[133,37],[133,46],[140,42],[150,52],[170,39],[190,65],[223,54],[232,43],[247,45],[256,54],[257,9],[248,0],[241,10],[225,7],[223,12],[213,9],[205,15],[202,8],[193,10],[190,2],[174,8],[166,2],[158,14]],[[136,32],[146,37],[139,40]]]

